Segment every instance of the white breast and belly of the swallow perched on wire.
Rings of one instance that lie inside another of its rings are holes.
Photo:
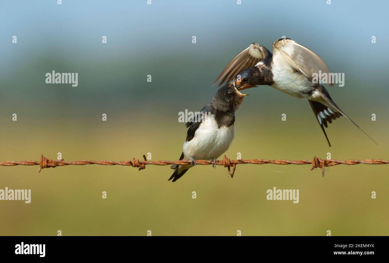
[[[211,160],[219,158],[230,147],[234,139],[234,125],[217,127],[214,115],[207,117],[197,128],[195,137],[182,147],[184,159]],[[181,169],[187,168],[182,165]],[[181,170],[180,169],[180,170]]]

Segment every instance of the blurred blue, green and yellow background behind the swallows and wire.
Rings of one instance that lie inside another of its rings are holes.
[[[217,75],[251,42],[271,49],[282,36],[345,73],[344,87],[327,88],[378,146],[341,118],[326,129],[329,148],[307,101],[260,86],[236,113],[226,155],[387,160],[387,8],[385,1],[2,1],[0,160],[58,152],[68,161],[149,152],[177,160],[186,138],[179,111],[209,103]],[[46,84],[52,70],[79,73],[78,87]],[[0,167],[0,189],[32,191],[30,204],[0,201],[0,235],[389,235],[389,166],[338,165],[324,178],[309,169],[238,165],[231,179],[224,167],[198,165],[171,183],[168,166],[40,174],[38,166]],[[300,202],[266,200],[274,186],[299,189]]]

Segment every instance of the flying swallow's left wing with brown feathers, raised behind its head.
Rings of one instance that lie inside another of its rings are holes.
[[[240,71],[244,70],[245,68],[255,66],[259,61],[270,56],[272,56],[272,53],[268,49],[266,49],[266,47],[263,47],[257,43],[252,43],[251,45],[249,45],[249,47],[247,47],[236,57],[234,57],[234,59],[231,60],[230,63],[228,63],[228,65],[224,68],[223,71],[221,71],[220,75],[216,78],[212,86],[219,81],[219,86],[223,83],[230,82],[239,74]]]

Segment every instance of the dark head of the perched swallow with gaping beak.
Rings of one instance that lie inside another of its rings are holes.
[[[235,112],[242,104],[243,98],[246,95],[248,94],[240,93],[231,82],[216,91],[216,94],[212,99],[212,105],[220,111]]]

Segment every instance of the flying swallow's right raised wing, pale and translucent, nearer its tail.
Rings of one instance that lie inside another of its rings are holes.
[[[311,81],[314,73],[329,73],[328,66],[319,56],[290,38],[280,38],[273,43],[273,63],[286,69],[298,70]]]

